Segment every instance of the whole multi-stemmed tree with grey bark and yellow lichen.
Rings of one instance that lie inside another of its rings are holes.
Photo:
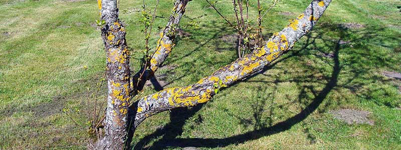
[[[160,32],[156,51],[152,55],[146,55],[144,65],[134,75],[130,74],[126,32],[124,24],[118,18],[117,0],[98,1],[101,19],[104,20],[101,36],[106,51],[108,96],[103,120],[104,135],[96,142],[90,143],[89,149],[129,148],[135,128],[146,118],[169,109],[205,103],[221,88],[262,70],[292,49],[295,42],[313,28],[331,2],[312,0],[303,13],[283,30],[274,33],[266,40],[264,46],[254,49],[194,84],[166,88],[143,96],[137,101],[130,101],[138,94],[138,90],[142,89],[144,82],[157,71],[173,48],[175,31],[188,1],[190,0],[175,1],[167,25]]]

